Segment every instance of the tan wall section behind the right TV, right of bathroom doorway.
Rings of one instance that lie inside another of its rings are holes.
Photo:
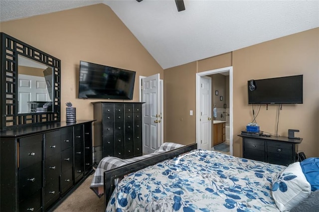
[[[251,122],[247,81],[290,75],[304,75],[304,104],[283,105],[278,134],[299,129],[304,138],[299,150],[308,157],[319,156],[319,28],[278,38],[233,52],[234,150],[241,155],[241,139],[236,136]],[[255,108],[258,108],[255,106]],[[257,123],[261,130],[276,133],[278,106],[261,106]]]

